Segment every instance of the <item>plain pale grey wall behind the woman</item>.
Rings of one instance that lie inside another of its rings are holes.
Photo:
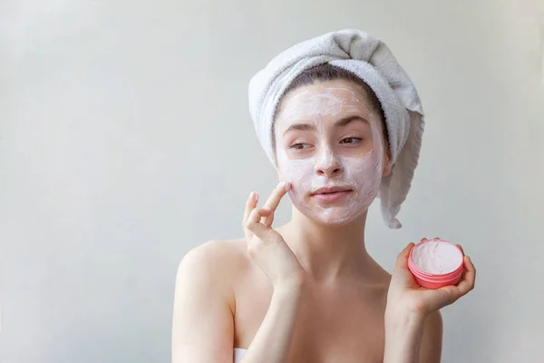
[[[0,361],[165,362],[177,265],[241,236],[276,174],[250,76],[342,28],[384,39],[427,129],[387,270],[461,243],[477,289],[443,310],[444,362],[529,362],[544,341],[544,13],[519,0],[0,2]],[[289,203],[278,220],[287,221]]]

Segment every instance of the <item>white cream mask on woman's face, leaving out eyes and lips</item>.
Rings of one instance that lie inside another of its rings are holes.
[[[334,123],[348,114],[364,114],[371,123],[374,147],[363,156],[335,152],[327,141],[326,123]],[[303,159],[290,159],[284,144],[278,142],[278,172],[283,181],[292,185],[289,196],[296,209],[324,224],[345,224],[367,211],[382,180],[384,148],[376,118],[368,111],[364,99],[349,88],[305,91],[288,101],[279,119],[280,123],[312,123],[317,129],[314,139],[318,144]],[[336,171],[332,175],[323,172],[332,170]],[[344,187],[352,191],[342,201],[317,201],[311,194],[323,187]]]

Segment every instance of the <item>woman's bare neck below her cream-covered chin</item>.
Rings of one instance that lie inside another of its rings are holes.
[[[292,220],[278,231],[314,280],[360,280],[379,269],[364,247],[365,221],[366,211],[345,225],[323,225],[293,208]]]

